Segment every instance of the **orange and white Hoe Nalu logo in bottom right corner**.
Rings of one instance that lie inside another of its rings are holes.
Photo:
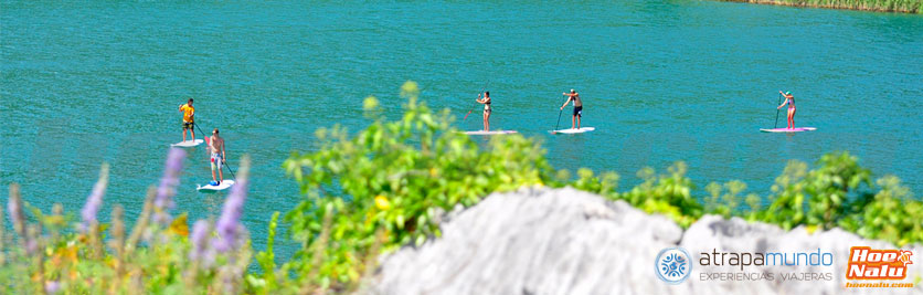
[[[849,249],[849,263],[846,266],[848,280],[904,280],[906,265],[913,264],[912,251],[872,250],[868,246]]]

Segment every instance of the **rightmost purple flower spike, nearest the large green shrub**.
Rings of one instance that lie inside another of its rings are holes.
[[[241,215],[244,213],[244,201],[247,194],[246,171],[242,169],[241,176],[242,178],[237,179],[238,182],[235,182],[234,187],[231,188],[231,193],[227,196],[227,200],[224,201],[221,217],[215,224],[218,239],[214,242],[214,247],[219,252],[227,252],[236,249],[240,243],[238,238],[243,228],[241,225]]]

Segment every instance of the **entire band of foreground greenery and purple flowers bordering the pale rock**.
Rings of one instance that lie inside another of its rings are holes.
[[[353,136],[339,127],[320,129],[322,148],[285,161],[306,198],[285,215],[291,225],[286,238],[303,246],[282,264],[273,250],[278,214],[269,223],[266,249],[256,254],[240,223],[248,160],[242,161],[238,183],[218,221],[198,221],[190,233],[184,215],[171,217],[184,157],[171,150],[160,186],[149,191],[130,232],[118,206],[109,223],[96,219],[108,179],[105,167],[77,224],[60,206],[50,215],[33,209],[26,218],[29,207],[11,186],[8,211],[15,234],[0,232],[0,287],[25,294],[354,291],[380,253],[439,236],[445,212],[522,186],[572,186],[665,214],[681,226],[717,213],[785,229],[840,226],[898,245],[923,242],[923,202],[894,176],[872,181],[847,152],[826,155],[810,170],[805,162],[789,162],[765,207],[755,193],[741,201],[746,190],[741,181],[710,183],[708,196],[694,196],[683,162],[659,175],[644,168],[637,175],[640,185],[618,191],[617,173],[580,169],[571,179],[548,164],[539,144],[518,135],[491,138],[481,148],[452,127],[447,110],[433,113],[417,95],[416,84],[402,87],[407,104],[399,120],[382,117],[378,101],[367,98],[373,119],[368,128]],[[246,272],[253,262],[262,273]]]

